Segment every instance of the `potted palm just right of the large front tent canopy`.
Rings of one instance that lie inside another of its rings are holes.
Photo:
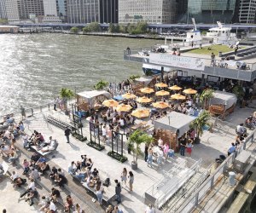
[[[203,134],[204,128],[208,125],[209,128],[211,127],[211,124],[208,123],[209,118],[211,118],[210,112],[207,110],[201,112],[201,114],[195,118],[195,120],[190,125],[191,128],[195,128],[195,143],[200,143],[200,137]]]

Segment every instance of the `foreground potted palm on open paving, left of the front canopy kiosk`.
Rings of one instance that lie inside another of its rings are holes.
[[[131,133],[127,147],[131,148],[131,152],[133,154],[133,161],[131,162],[132,170],[137,170],[137,158],[139,155],[143,155],[141,145],[143,143],[149,144],[152,141],[154,141],[154,138],[142,130],[135,130]]]

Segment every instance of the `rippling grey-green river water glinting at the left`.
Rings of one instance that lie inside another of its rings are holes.
[[[100,79],[119,82],[142,74],[141,64],[123,60],[123,50],[154,43],[122,37],[0,34],[0,115],[20,105],[48,103],[63,87],[92,89]]]

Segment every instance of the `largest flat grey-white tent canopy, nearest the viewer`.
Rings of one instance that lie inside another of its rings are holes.
[[[180,112],[170,112],[166,117],[155,120],[154,128],[170,130],[174,133],[178,132],[177,136],[181,136],[190,130],[189,125],[194,120],[195,117]]]

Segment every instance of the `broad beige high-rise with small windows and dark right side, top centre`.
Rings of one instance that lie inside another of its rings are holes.
[[[174,23],[176,0],[119,0],[119,23]]]

